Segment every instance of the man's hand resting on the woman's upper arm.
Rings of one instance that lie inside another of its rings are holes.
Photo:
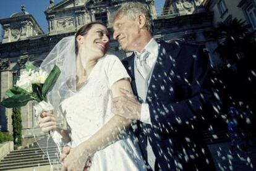
[[[124,95],[112,99],[114,114],[130,120],[140,120],[142,104],[129,91],[122,88],[120,88],[120,91]]]

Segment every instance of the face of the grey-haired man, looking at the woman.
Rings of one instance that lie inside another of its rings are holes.
[[[113,38],[117,40],[124,51],[136,51],[139,37],[137,20],[126,15],[118,15],[113,24]]]

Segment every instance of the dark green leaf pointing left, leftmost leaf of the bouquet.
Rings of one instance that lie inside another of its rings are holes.
[[[29,95],[17,94],[12,96],[11,98],[4,99],[0,102],[0,105],[7,108],[22,107],[25,106],[28,103],[28,101],[32,100],[34,100],[34,98],[32,98]]]

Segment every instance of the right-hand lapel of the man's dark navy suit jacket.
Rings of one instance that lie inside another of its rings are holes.
[[[147,97],[151,97],[151,99],[156,97],[161,85],[163,85],[163,81],[175,65],[175,61],[180,50],[181,48],[176,44],[161,41],[156,64],[148,85]]]

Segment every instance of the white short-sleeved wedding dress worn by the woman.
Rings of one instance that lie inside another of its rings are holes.
[[[61,102],[71,128],[72,147],[87,140],[108,122],[111,112],[111,86],[129,78],[121,61],[113,55],[98,60],[87,81],[74,95]],[[146,170],[133,133],[98,151],[92,157],[90,170]]]

